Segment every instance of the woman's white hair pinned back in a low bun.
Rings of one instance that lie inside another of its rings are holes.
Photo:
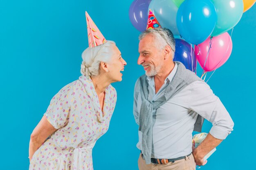
[[[86,48],[82,53],[81,74],[85,76],[98,76],[101,62],[109,63],[113,55],[114,41],[108,40],[106,43],[92,48]]]

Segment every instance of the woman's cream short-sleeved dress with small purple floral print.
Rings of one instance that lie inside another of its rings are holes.
[[[58,129],[34,153],[29,170],[93,170],[92,148],[106,131],[117,93],[105,90],[103,111],[90,76],[63,87],[44,114]]]

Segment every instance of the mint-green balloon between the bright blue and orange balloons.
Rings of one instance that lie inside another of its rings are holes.
[[[211,0],[216,9],[217,22],[211,36],[218,36],[236,26],[243,15],[243,0]]]

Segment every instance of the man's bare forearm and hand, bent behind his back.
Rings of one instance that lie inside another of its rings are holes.
[[[216,148],[222,142],[221,139],[217,139],[213,137],[210,133],[208,133],[207,137],[203,140],[203,142],[193,150],[193,156],[195,158],[195,162],[198,165],[202,165],[204,163],[204,156],[207,155],[213,148]]]

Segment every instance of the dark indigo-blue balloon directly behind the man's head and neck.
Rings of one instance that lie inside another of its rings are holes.
[[[196,68],[196,57],[194,49],[191,45],[183,39],[175,39],[175,54],[173,61],[180,61],[186,67],[186,69],[195,71]]]

